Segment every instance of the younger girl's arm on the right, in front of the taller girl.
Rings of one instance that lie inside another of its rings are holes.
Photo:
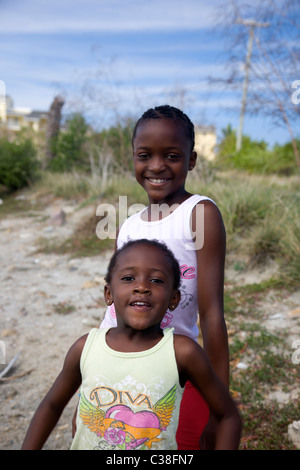
[[[204,350],[192,339],[174,335],[181,385],[190,380],[217,419],[215,450],[237,450],[242,422],[227,388],[217,377]]]

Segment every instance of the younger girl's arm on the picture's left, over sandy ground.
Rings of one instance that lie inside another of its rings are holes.
[[[40,450],[58,422],[65,406],[81,384],[80,357],[87,335],[70,348],[63,368],[36,410],[22,450]]]

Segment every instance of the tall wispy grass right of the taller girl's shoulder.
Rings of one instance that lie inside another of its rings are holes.
[[[227,172],[216,174],[209,183],[191,180],[189,189],[217,202],[228,253],[240,253],[248,268],[274,261],[280,282],[290,288],[299,286],[299,177]]]

